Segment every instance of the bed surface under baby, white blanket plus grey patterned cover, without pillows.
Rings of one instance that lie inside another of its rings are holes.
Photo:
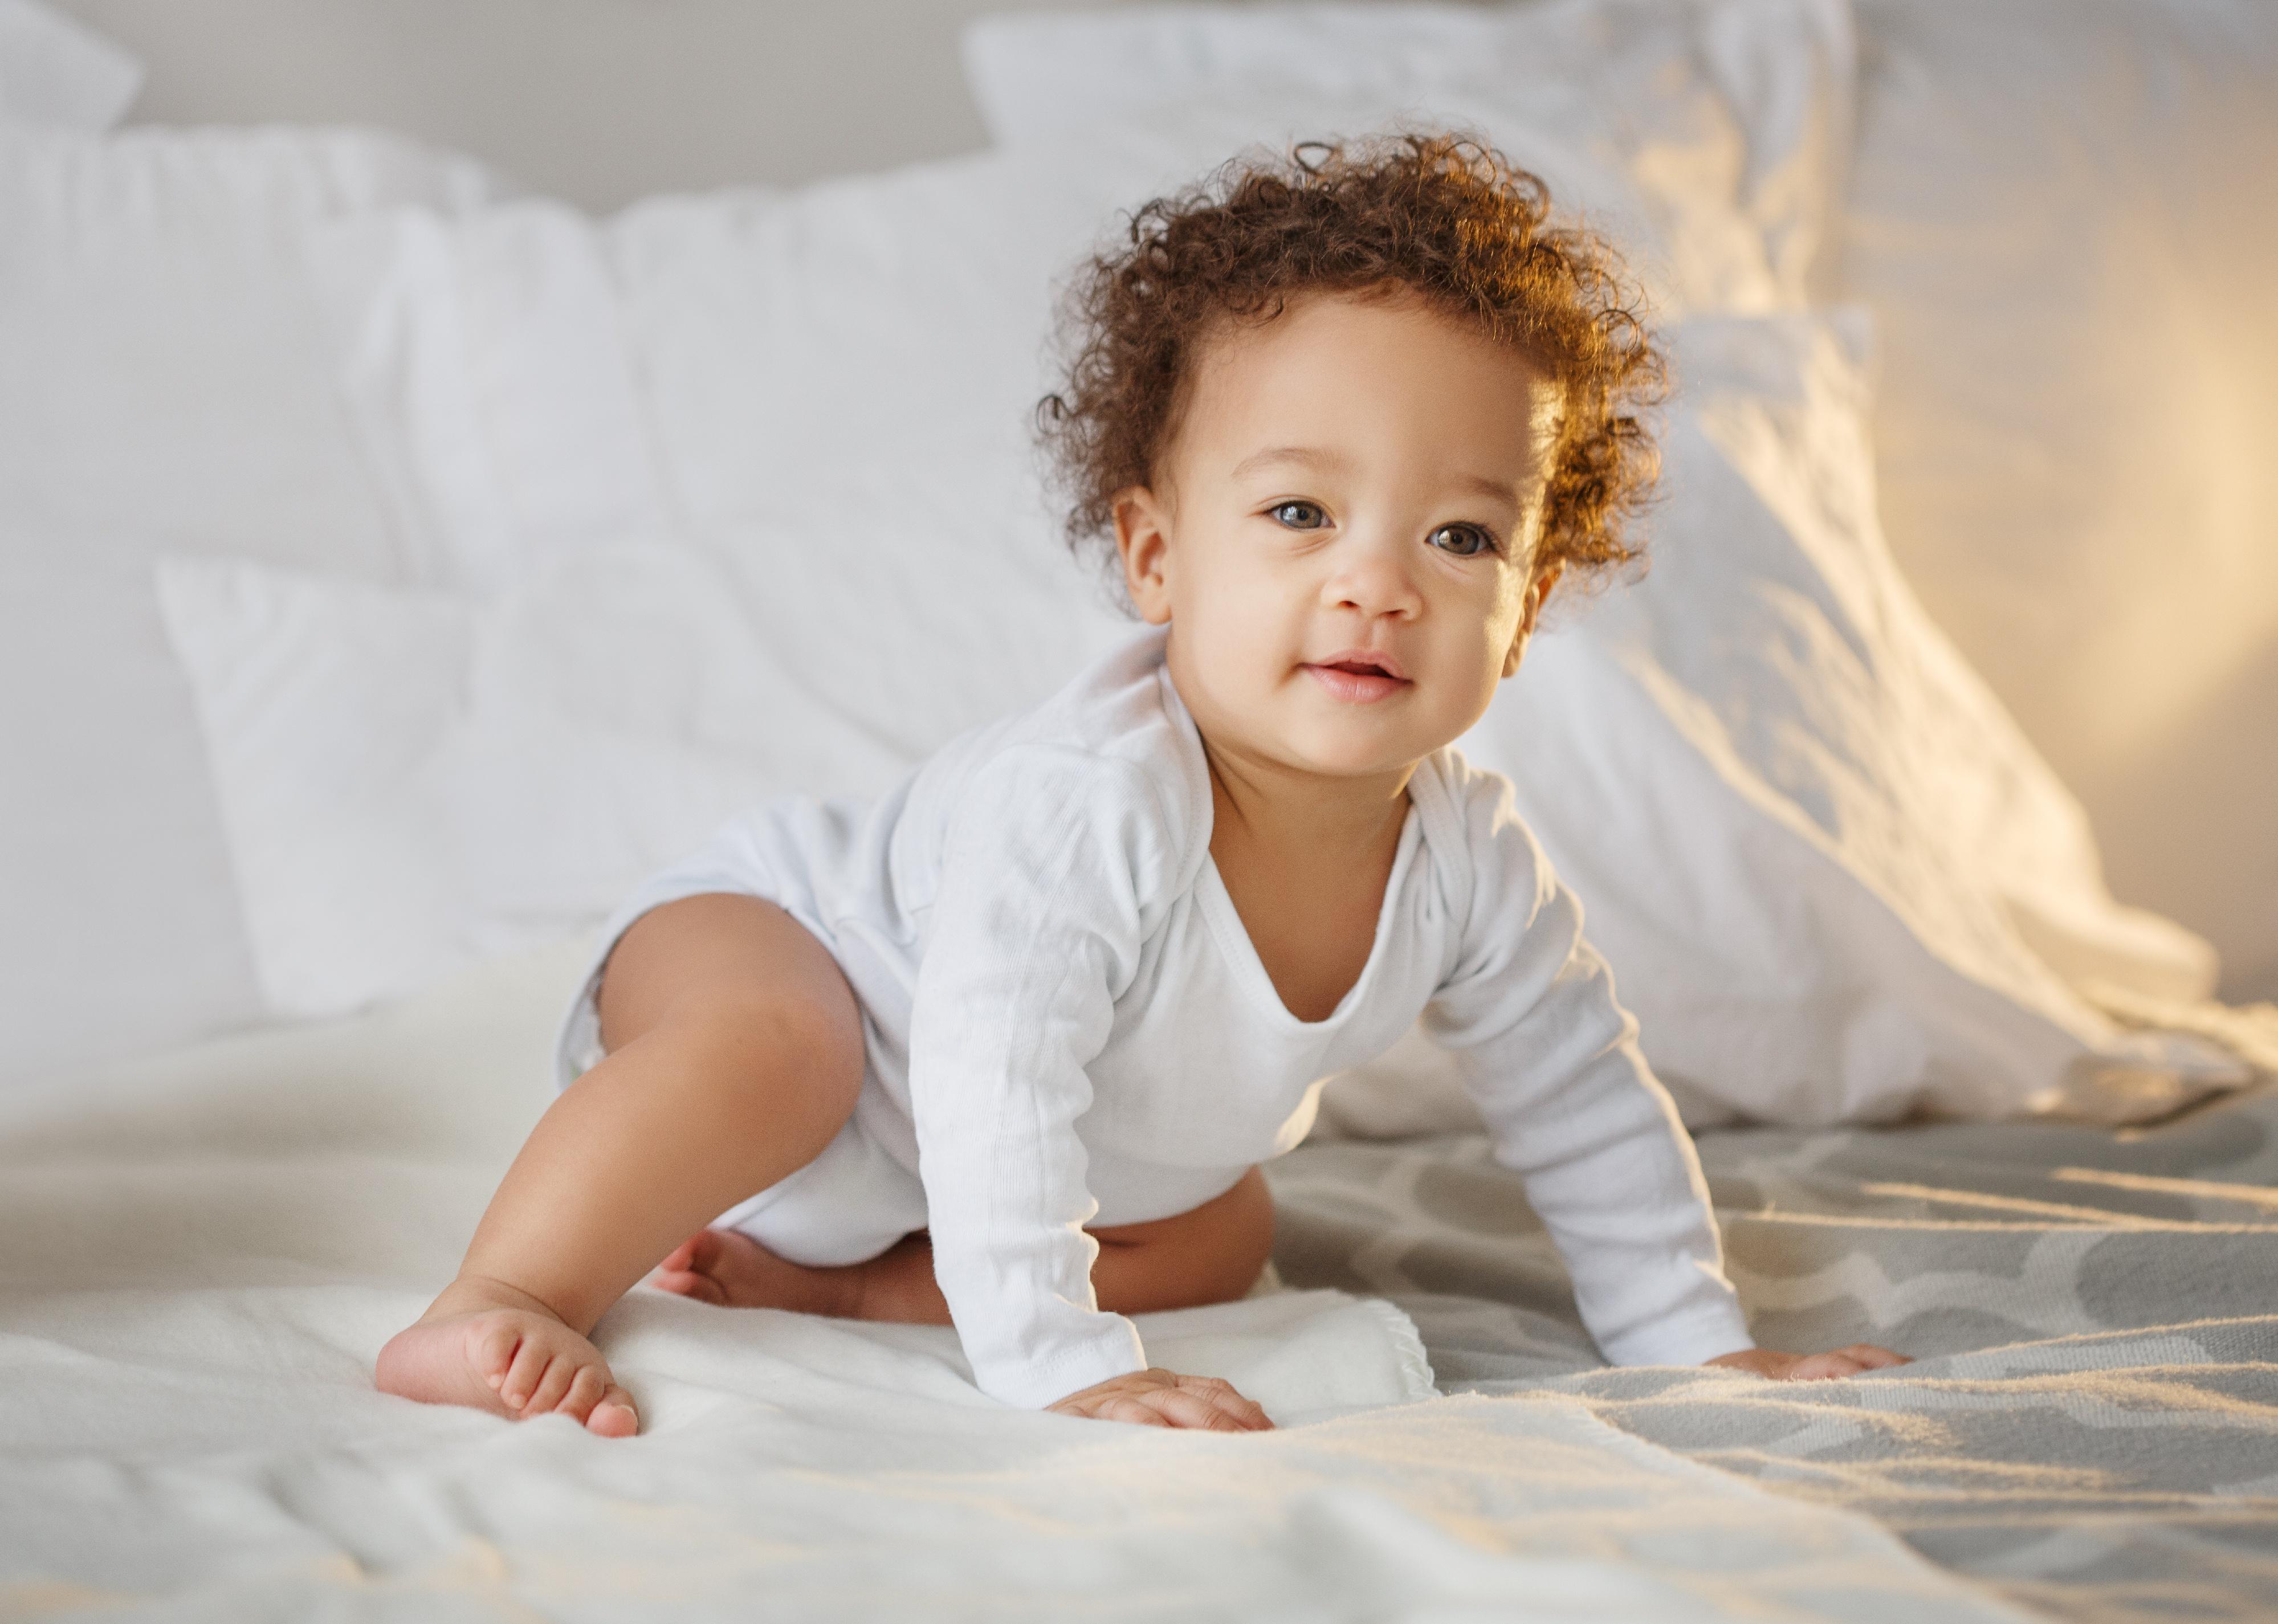
[[[387,1399],[371,1358],[542,1109],[588,948],[7,1096],[7,1617],[2132,1622],[2278,1594],[2269,1089],[2130,1130],[1704,1134],[1756,1335],[1916,1355],[1850,1383],[1604,1369],[1513,1175],[1440,1134],[1298,1148],[1278,1289],[1146,1323],[1262,1394],[1264,1440],[1018,1417],[945,1332],[649,1289],[597,1332],[631,1444]]]

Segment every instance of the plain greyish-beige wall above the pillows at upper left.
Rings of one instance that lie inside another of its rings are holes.
[[[1046,5],[52,2],[150,66],[134,123],[374,123],[595,210],[975,150],[984,134],[957,32],[984,11]]]

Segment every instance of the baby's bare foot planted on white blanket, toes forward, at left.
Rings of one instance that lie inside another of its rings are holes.
[[[640,1430],[633,1396],[620,1387],[585,1337],[538,1298],[510,1287],[456,1280],[410,1330],[380,1348],[380,1392],[419,1403],[526,1421],[567,1414],[601,1437]]]

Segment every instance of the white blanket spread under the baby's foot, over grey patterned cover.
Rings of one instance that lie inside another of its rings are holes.
[[[638,1440],[378,1394],[581,950],[0,1100],[0,1617],[2014,1617],[1576,1399],[1431,1399],[1337,1291],[1146,1328],[1271,1435],[1014,1412],[948,1332],[654,1291],[599,1330]]]

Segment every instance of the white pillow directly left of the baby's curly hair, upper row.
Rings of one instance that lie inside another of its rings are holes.
[[[1112,203],[1189,171],[1114,169],[984,155],[606,223],[403,210],[328,235],[326,312],[390,499],[467,579],[847,485],[872,506],[843,524],[909,524],[961,471],[1034,492],[1052,278]]]

